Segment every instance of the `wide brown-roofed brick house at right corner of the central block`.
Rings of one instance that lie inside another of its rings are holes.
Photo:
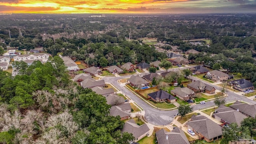
[[[214,94],[216,90],[213,86],[205,84],[200,80],[188,84],[187,87],[193,90],[194,92],[206,92],[208,94]]]

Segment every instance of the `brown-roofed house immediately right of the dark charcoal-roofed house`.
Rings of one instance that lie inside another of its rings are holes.
[[[171,90],[171,94],[177,96],[181,100],[189,100],[190,98],[194,97],[195,92],[187,87],[184,87]]]

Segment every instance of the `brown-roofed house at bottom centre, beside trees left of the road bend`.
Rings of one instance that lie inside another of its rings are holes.
[[[133,119],[131,119],[125,122],[122,133],[131,133],[135,138],[134,141],[137,142],[140,139],[144,138],[144,136],[146,136],[149,133],[149,130],[150,129],[148,128],[147,124],[142,124],[139,126]]]

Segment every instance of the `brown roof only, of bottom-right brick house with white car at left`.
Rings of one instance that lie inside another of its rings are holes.
[[[207,139],[222,135],[222,127],[210,119],[194,120],[187,122],[194,130],[200,132]]]

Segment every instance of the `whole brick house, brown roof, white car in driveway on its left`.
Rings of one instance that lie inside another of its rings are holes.
[[[206,142],[212,142],[222,138],[222,127],[205,116],[192,116],[190,122],[186,123],[188,129],[193,130]]]

